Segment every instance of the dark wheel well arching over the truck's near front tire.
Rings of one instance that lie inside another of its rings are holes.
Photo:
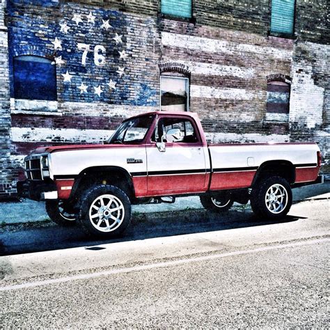
[[[135,196],[134,185],[129,173],[120,167],[91,167],[86,168],[79,173],[78,178],[74,180],[70,199],[78,200],[84,190],[95,184],[112,184],[125,191],[125,194],[132,199]]]

